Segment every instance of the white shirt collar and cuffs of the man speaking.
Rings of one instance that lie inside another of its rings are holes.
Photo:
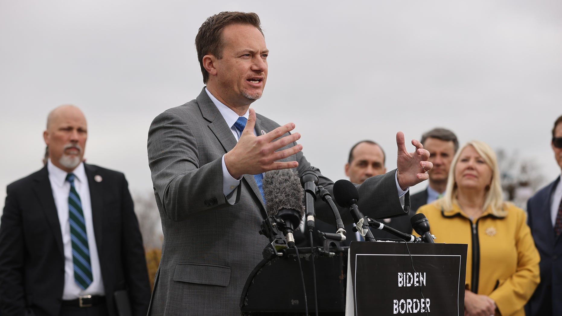
[[[212,103],[215,104],[216,108],[219,109],[220,115],[223,116],[226,125],[230,126],[230,131],[232,131],[232,135],[234,135],[234,138],[236,139],[236,141],[238,141],[240,139],[240,136],[242,135],[242,132],[239,131],[236,127],[234,127],[234,123],[238,120],[239,115],[236,112],[232,111],[232,109],[221,103],[217,98],[215,98],[214,95],[212,95],[209,92],[209,90],[207,90],[207,88],[205,88],[205,92],[207,93],[207,95],[209,95],[209,98],[211,99]],[[246,113],[244,113],[243,116],[246,117],[246,119],[250,116],[249,108],[248,111],[246,111]],[[253,130],[253,135],[256,135],[256,130]],[[398,189],[398,196],[401,198],[400,203],[402,204],[402,207],[404,207],[403,196],[404,194],[406,194],[409,188],[406,188],[406,191],[402,190],[400,185],[398,185],[397,175],[395,175],[395,178],[396,178],[396,189]],[[224,155],[223,155],[223,193],[224,196],[227,197],[227,199],[228,199],[228,195],[232,193],[232,191],[236,189],[236,187],[240,184],[240,180],[242,180],[242,177],[240,177],[239,179],[235,179],[230,175],[228,169],[226,169],[226,164],[224,163]]]

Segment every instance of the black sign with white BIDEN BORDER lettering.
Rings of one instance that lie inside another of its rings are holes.
[[[466,249],[464,244],[352,242],[355,315],[464,315]]]

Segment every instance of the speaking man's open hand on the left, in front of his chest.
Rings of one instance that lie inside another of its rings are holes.
[[[257,175],[270,170],[297,167],[298,162],[296,161],[278,162],[278,160],[300,152],[302,145],[299,144],[288,149],[279,150],[278,152],[275,151],[301,138],[301,134],[294,133],[275,140],[292,131],[294,123],[287,123],[265,135],[259,136],[253,135],[255,124],[256,111],[250,109],[250,116],[238,140],[238,144],[224,155],[224,164],[230,175],[238,179],[242,175]]]

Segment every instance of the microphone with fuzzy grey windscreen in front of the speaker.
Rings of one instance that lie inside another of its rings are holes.
[[[289,247],[294,245],[293,231],[301,223],[305,214],[302,207],[303,191],[296,173],[289,169],[272,170],[265,173],[264,198],[267,201],[265,210],[268,216],[282,219],[283,227],[279,227]]]

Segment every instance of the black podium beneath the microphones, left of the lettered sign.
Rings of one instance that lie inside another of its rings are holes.
[[[299,248],[309,314],[314,315],[314,283],[311,256],[314,255],[318,310],[321,315],[344,315],[347,285],[348,247],[330,248],[333,255],[311,254],[310,248]],[[305,314],[304,295],[297,256],[292,249],[282,257],[261,260],[244,286],[241,298],[243,315]]]

